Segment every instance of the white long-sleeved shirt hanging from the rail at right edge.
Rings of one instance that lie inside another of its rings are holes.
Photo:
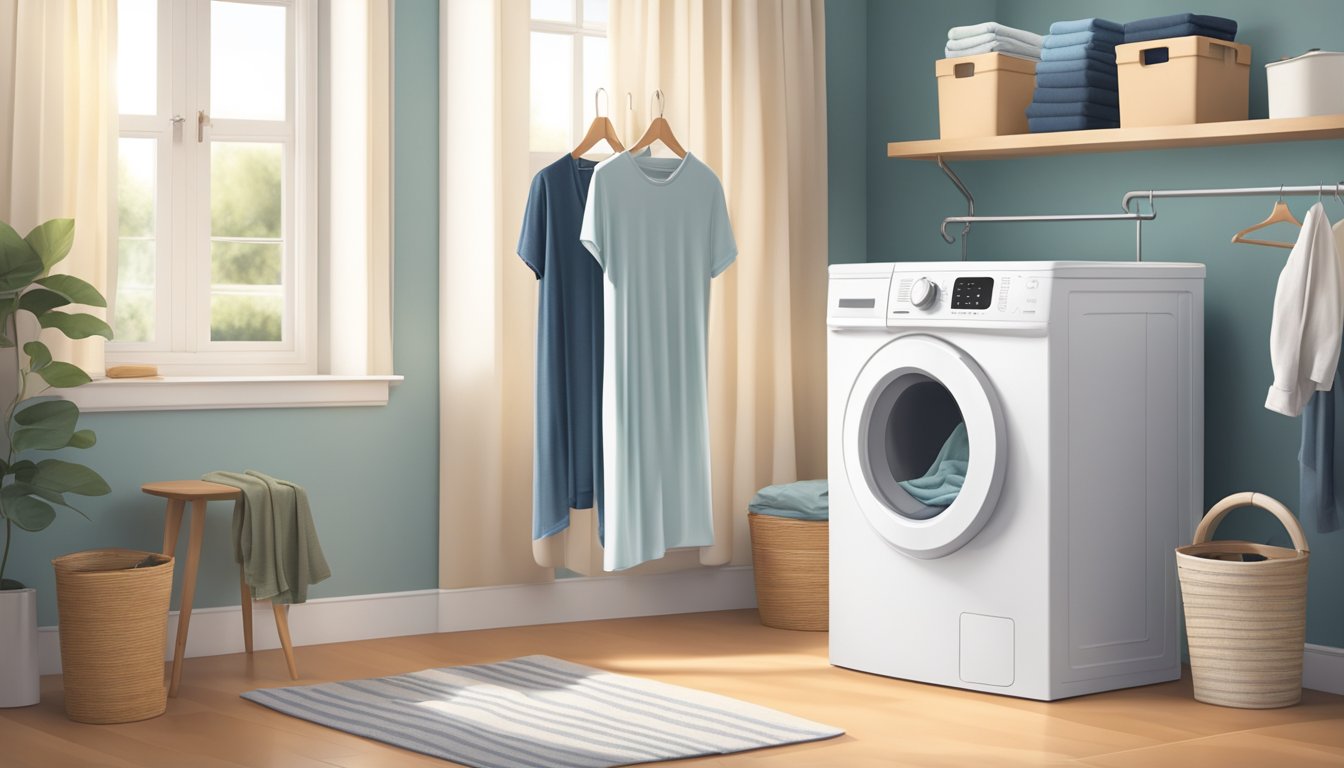
[[[1331,223],[1312,206],[1274,291],[1269,359],[1274,383],[1265,408],[1297,416],[1316,390],[1335,381],[1344,335],[1344,284]]]

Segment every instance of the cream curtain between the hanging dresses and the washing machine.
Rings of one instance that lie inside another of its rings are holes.
[[[824,0],[629,0],[610,5],[617,122],[640,136],[661,89],[681,144],[723,180],[738,261],[710,305],[715,545],[746,562],[762,486],[827,471]]]

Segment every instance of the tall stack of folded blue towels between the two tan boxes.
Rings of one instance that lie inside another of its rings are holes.
[[[1027,108],[1031,132],[1120,128],[1116,46],[1124,42],[1125,27],[1106,19],[1051,24]]]

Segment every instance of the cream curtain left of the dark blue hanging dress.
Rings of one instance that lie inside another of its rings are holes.
[[[531,180],[527,13],[439,8],[441,588],[554,573],[531,546],[536,278],[513,254]]]

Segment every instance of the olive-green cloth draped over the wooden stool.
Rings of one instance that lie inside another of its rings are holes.
[[[253,599],[304,603],[308,585],[332,574],[302,487],[250,469],[202,480],[242,491],[234,503],[234,561],[242,564]]]

